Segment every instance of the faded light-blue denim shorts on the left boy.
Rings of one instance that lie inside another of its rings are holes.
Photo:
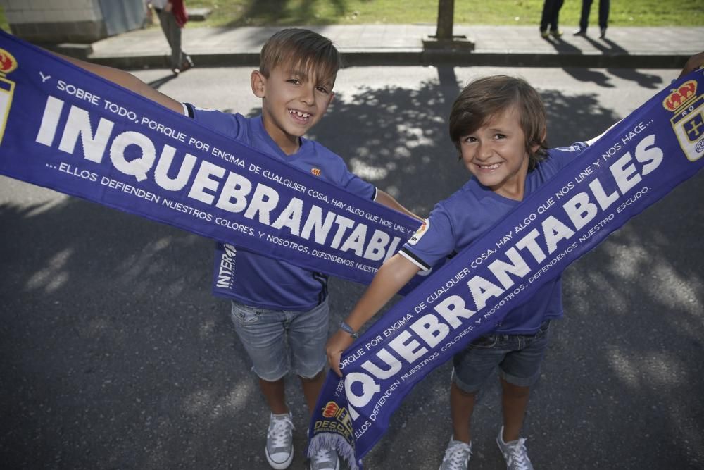
[[[269,310],[232,302],[232,323],[259,378],[274,382],[291,371],[313,378],[327,363],[327,299],[308,311]]]

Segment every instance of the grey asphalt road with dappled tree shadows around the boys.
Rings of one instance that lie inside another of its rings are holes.
[[[601,133],[675,70],[349,68],[312,137],[417,214],[467,178],[444,118],[460,86],[518,73],[549,142]],[[199,106],[257,113],[249,69],[137,73]],[[536,469],[704,469],[704,174],[565,273],[524,428]],[[267,469],[268,412],[210,295],[213,242],[0,177],[0,461],[8,469]],[[331,329],[362,287],[331,281]],[[398,409],[367,469],[436,469],[450,367]],[[305,445],[307,417],[289,381]],[[502,469],[498,384],[474,415],[472,469]],[[303,468],[301,452],[291,468]]]

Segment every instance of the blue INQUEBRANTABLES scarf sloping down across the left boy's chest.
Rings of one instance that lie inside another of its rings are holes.
[[[360,283],[420,226],[4,32],[0,85],[12,178]]]

